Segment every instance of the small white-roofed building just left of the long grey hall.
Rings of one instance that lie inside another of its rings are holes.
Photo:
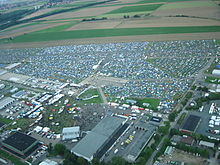
[[[67,127],[63,128],[62,131],[62,140],[72,140],[79,138],[80,136],[80,127]]]

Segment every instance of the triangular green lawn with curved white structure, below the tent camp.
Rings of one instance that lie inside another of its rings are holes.
[[[94,97],[97,96],[97,97]],[[94,97],[94,98],[92,98]],[[89,99],[91,98],[91,99]],[[78,105],[82,105],[82,104],[91,104],[91,103],[95,103],[95,104],[101,104],[103,103],[102,97],[98,91],[97,88],[90,88],[87,91],[85,91],[84,93],[82,93],[79,96],[79,100],[76,102],[76,104]]]

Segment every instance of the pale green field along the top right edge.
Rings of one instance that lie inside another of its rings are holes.
[[[212,1],[192,1],[192,2],[178,2],[168,3],[163,5],[160,9],[179,9],[179,8],[191,8],[191,7],[212,7],[216,4]]]

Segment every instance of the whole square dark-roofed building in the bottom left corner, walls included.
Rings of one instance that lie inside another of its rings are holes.
[[[16,132],[2,141],[3,148],[21,158],[26,158],[38,148],[37,139]]]

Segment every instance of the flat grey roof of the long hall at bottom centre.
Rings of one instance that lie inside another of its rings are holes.
[[[113,116],[102,119],[71,151],[89,161],[92,160],[94,154],[124,121],[125,119]]]

